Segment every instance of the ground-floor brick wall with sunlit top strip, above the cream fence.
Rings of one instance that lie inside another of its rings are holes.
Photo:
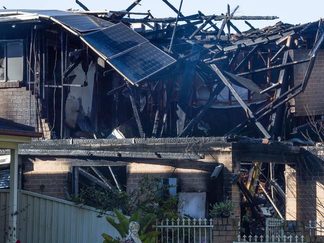
[[[22,157],[22,189],[66,200],[64,187],[67,187],[67,173],[71,162],[64,158],[27,158]]]

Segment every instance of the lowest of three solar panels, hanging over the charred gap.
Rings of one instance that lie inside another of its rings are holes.
[[[108,62],[131,83],[136,84],[150,77],[175,60],[151,43],[145,43]]]

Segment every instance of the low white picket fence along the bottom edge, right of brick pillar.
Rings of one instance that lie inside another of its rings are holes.
[[[254,243],[304,243],[305,237],[304,236],[243,236],[240,235],[237,236],[237,242],[233,243],[239,243],[239,242],[254,242]]]

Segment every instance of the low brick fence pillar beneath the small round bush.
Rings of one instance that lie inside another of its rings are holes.
[[[237,242],[240,219],[214,219],[213,243]]]

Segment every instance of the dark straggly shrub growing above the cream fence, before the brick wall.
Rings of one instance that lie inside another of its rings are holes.
[[[95,207],[105,215],[114,208],[125,215],[131,215],[136,209],[142,209],[142,214],[155,214],[158,219],[179,218],[178,208],[182,202],[178,196],[169,197],[166,191],[172,186],[161,185],[161,179],[144,175],[139,181],[139,187],[133,191],[112,191],[99,189],[95,184],[83,187],[78,196],[72,196],[71,201],[80,205]]]

